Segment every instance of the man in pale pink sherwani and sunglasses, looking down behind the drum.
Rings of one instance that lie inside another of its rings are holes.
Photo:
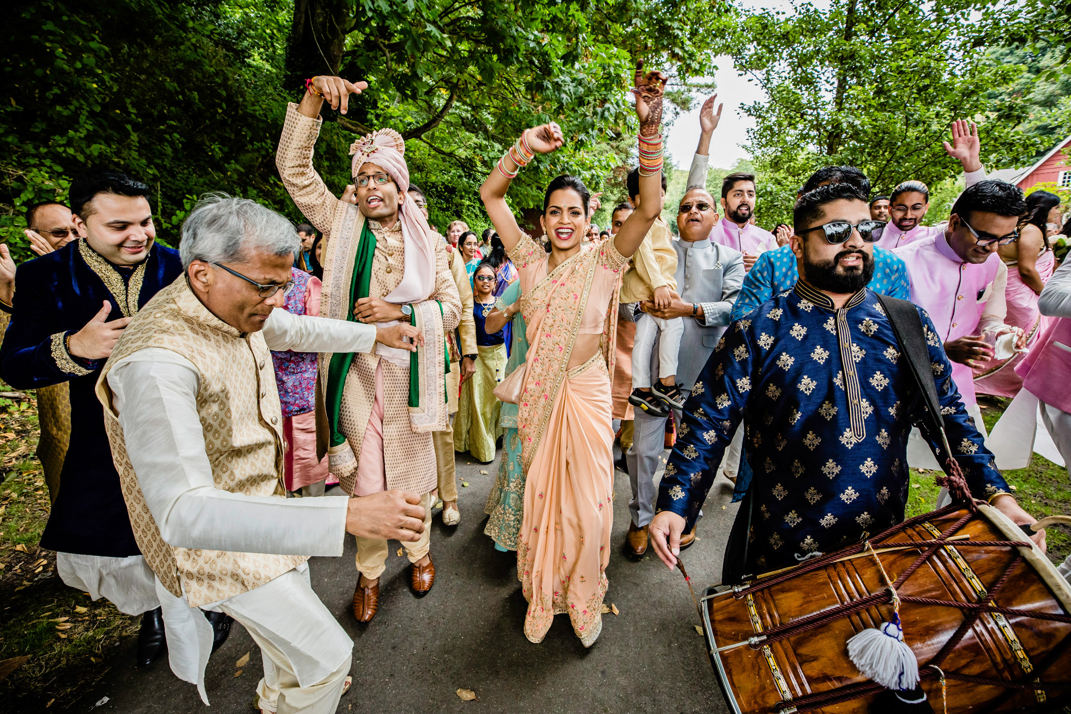
[[[948,226],[894,253],[907,263],[911,301],[930,314],[952,362],[952,379],[975,426],[985,436],[975,398],[972,367],[994,354],[997,338],[1004,349],[1023,349],[1023,331],[1005,324],[1005,286],[1008,269],[997,246],[1017,237],[1019,217],[1026,211],[1023,192],[1004,181],[970,186],[952,207]],[[1012,343],[1005,345],[1004,343]],[[912,441],[914,441],[912,436]],[[937,462],[908,446],[916,468],[936,469]]]

